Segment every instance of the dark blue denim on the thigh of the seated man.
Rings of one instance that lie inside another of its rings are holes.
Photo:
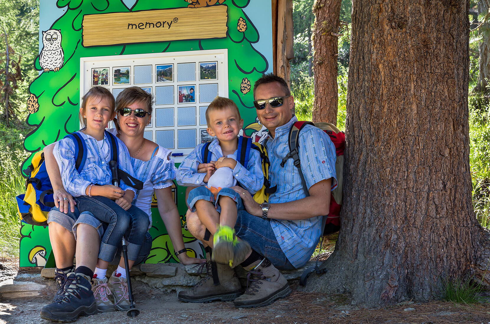
[[[295,269],[282,252],[270,226],[270,219],[253,216],[245,210],[239,210],[235,231],[239,238],[247,241],[255,252],[269,259],[277,269]]]

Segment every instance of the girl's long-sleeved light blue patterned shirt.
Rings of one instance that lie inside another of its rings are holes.
[[[112,180],[109,167],[110,149],[104,150],[107,152],[104,154],[94,137],[80,131],[77,131],[77,133],[85,140],[87,146],[87,158],[81,173],[78,173],[75,169],[75,144],[71,138],[59,140],[53,149],[54,158],[58,162],[60,169],[63,186],[73,197],[86,195],[85,190],[92,183],[108,185],[111,184]],[[119,138],[116,138],[116,140],[119,144],[119,168],[131,176],[135,176],[126,146]],[[106,148],[110,148],[110,140],[106,134],[104,134],[103,145],[107,145]],[[123,190],[132,190],[136,194],[136,190],[127,186],[123,181],[121,181],[120,187]]]

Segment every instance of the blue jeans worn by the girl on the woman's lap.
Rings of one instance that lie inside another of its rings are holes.
[[[123,236],[127,241],[128,259],[138,259],[150,224],[145,212],[134,205],[125,211],[115,201],[102,196],[79,196],[73,199],[80,213],[91,212],[100,222],[108,224],[100,242],[99,259],[111,262]]]

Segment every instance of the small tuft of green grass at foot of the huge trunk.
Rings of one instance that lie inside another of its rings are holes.
[[[474,283],[472,278],[445,281],[442,288],[442,300],[464,304],[477,303],[482,301],[480,297],[482,290],[482,286]]]

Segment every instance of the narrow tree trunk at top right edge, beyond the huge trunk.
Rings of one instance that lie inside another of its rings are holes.
[[[479,0],[478,1],[478,15],[486,15],[489,12],[490,0]],[[484,23],[479,28],[479,34],[482,38],[480,43],[479,51],[480,58],[478,63],[480,69],[478,72],[478,82],[475,87],[475,91],[478,92],[488,92],[487,86],[490,79],[490,25],[489,23]]]

